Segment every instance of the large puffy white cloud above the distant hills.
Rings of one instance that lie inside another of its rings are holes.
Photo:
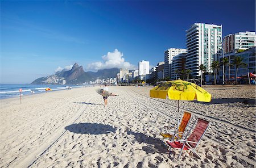
[[[123,53],[115,49],[114,52],[108,52],[108,54],[102,56],[103,61],[93,62],[86,66],[86,70],[97,71],[99,69],[110,69],[110,68],[127,68],[127,69],[137,69],[137,66],[130,64],[130,62],[125,62],[123,58]]]

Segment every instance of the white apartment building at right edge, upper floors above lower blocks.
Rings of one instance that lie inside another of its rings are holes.
[[[256,46],[255,32],[238,32],[223,37],[224,54],[234,52],[237,49],[246,50]]]

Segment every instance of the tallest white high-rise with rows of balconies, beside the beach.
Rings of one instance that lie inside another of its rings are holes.
[[[185,69],[193,77],[200,77],[199,66],[203,64],[212,73],[212,62],[219,60],[222,53],[222,25],[195,23],[186,30]]]

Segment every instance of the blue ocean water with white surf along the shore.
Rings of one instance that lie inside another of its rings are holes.
[[[13,98],[20,96],[19,89],[22,89],[22,95],[31,95],[45,93],[46,88],[51,88],[52,91],[65,90],[69,87],[85,87],[80,85],[22,85],[22,84],[0,84],[0,99]]]

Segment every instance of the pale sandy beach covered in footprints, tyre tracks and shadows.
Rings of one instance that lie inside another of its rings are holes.
[[[212,102],[180,101],[209,120],[197,152],[168,157],[164,126],[176,124],[177,101],[149,97],[152,87],[110,86],[2,99],[0,167],[256,167],[255,86],[206,86]],[[175,157],[175,158],[174,158]]]

